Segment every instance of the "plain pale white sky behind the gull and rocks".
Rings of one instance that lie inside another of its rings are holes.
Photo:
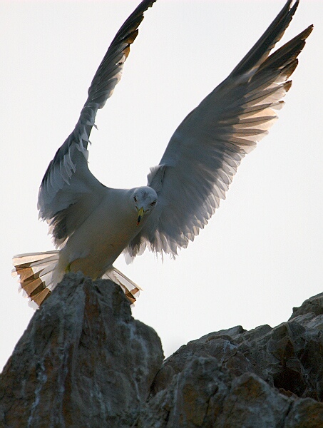
[[[0,1],[0,368],[34,311],[11,257],[51,250],[37,220],[43,173],[73,130],[108,45],[139,1]],[[104,184],[145,185],[170,136],[260,37],[284,0],[158,0],[113,97],[97,116],[90,168]],[[322,292],[323,1],[301,0],[284,34],[314,31],[270,135],[238,169],[227,200],[175,262],[126,266],[141,293],[133,315],[166,355],[208,332],[287,320]]]

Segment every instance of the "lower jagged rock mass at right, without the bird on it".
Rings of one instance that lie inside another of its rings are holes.
[[[155,377],[138,428],[322,428],[323,293],[288,322],[212,332]]]

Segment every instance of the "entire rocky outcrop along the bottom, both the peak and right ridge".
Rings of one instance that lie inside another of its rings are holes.
[[[232,327],[163,362],[113,282],[70,274],[0,375],[0,427],[322,428],[323,293],[289,321]]]

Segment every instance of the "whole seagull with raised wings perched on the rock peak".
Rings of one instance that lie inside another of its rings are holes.
[[[140,287],[113,266],[121,253],[132,261],[145,248],[175,258],[207,225],[225,199],[242,158],[277,119],[313,26],[272,52],[297,9],[288,0],[230,75],[191,111],[173,133],[148,183],[109,188],[88,169],[88,144],[96,113],[121,79],[144,12],[143,0],[125,21],[88,89],[73,132],[49,163],[39,188],[39,218],[48,223],[56,250],[14,256],[13,275],[41,305],[66,272],[110,278],[130,302]],[[272,53],[271,53],[272,52]]]

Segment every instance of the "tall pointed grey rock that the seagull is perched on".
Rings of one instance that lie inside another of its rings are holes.
[[[0,427],[131,427],[163,362],[121,288],[69,274],[0,377]]]

